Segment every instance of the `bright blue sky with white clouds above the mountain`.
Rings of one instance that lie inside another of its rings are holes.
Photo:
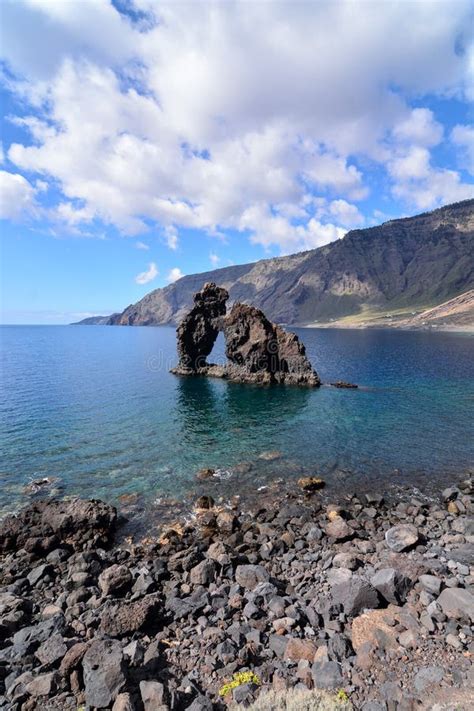
[[[464,0],[2,0],[1,322],[474,196]]]

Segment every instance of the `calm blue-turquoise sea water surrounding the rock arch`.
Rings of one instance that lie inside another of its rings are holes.
[[[171,375],[168,327],[0,330],[0,511],[31,479],[116,501],[185,496],[201,467],[226,492],[303,470],[352,479],[449,479],[474,460],[474,339],[453,333],[299,331],[323,381],[359,390],[262,388]],[[219,356],[222,344],[216,346]],[[258,459],[279,450],[281,459]],[[233,467],[251,462],[250,474]]]

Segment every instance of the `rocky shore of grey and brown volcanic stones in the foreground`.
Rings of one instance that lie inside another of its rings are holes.
[[[322,487],[203,496],[140,542],[100,501],[5,518],[0,708],[472,708],[472,482]]]

